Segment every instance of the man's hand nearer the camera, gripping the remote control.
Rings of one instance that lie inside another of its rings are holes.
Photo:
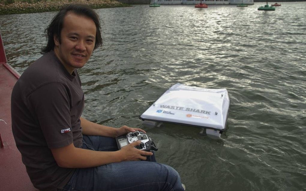
[[[140,143],[141,141],[135,141],[122,147],[121,150],[119,150],[119,152],[121,152],[121,156],[124,156],[123,161],[147,160],[147,156],[153,155],[152,152],[142,151],[134,148],[137,145],[140,145]]]

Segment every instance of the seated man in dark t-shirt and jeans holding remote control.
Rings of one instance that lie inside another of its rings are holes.
[[[84,93],[76,68],[102,44],[97,14],[83,5],[63,7],[46,34],[44,55],[12,92],[13,135],[33,185],[42,191],[184,190],[177,171],[135,148],[140,141],[118,150],[115,137],[141,129],[81,117]]]

